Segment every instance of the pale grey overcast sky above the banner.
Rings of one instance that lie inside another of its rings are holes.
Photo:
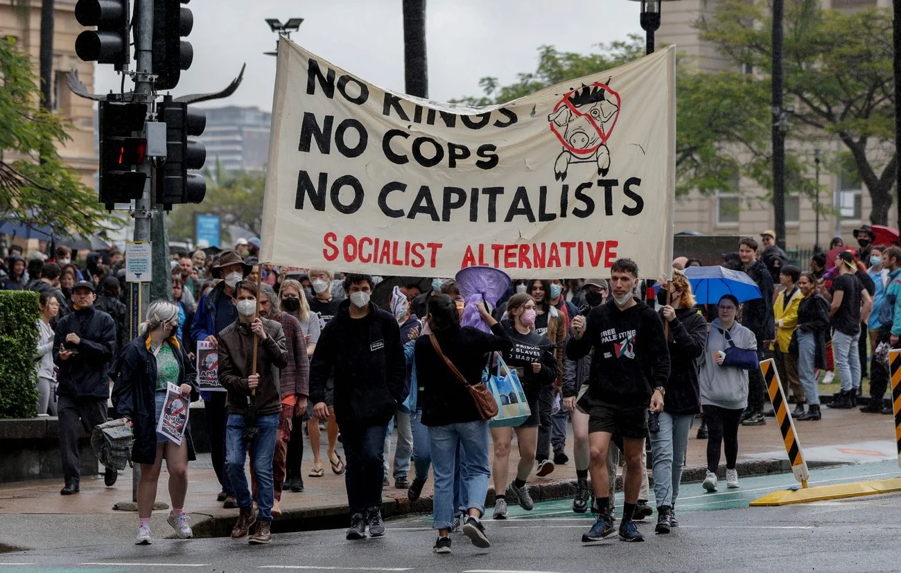
[[[218,91],[247,62],[244,81],[227,100],[206,105],[253,105],[269,111],[276,34],[266,18],[304,18],[291,39],[323,59],[378,86],[404,91],[401,0],[196,0],[194,64],[182,72],[176,96]],[[601,42],[641,33],[638,2],[627,0],[429,0],[426,7],[429,96],[447,101],[479,94],[478,80],[537,66],[538,47],[587,53]],[[96,67],[95,92],[118,91],[112,66]],[[126,86],[126,89],[128,87]]]

